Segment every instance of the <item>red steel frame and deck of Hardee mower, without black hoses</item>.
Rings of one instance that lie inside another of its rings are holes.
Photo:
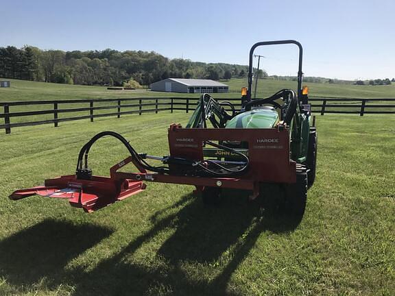
[[[143,181],[194,185],[197,190],[206,186],[251,190],[254,199],[259,194],[259,183],[296,182],[296,162],[289,159],[289,130],[284,125],[272,129],[184,129],[169,127],[169,150],[173,157],[204,160],[206,140],[232,140],[248,143],[249,168],[239,177],[194,177],[176,175],[178,167],[169,164],[174,174],[147,172],[131,156],[110,169],[110,177],[93,176],[91,180],[77,180],[66,175],[45,180],[45,186],[16,190],[10,199],[31,195],[69,199],[72,206],[92,212],[115,201],[125,199],[145,189]],[[119,172],[132,162],[139,173]]]

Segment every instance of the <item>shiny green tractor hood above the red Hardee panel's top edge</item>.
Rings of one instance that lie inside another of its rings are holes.
[[[226,123],[226,128],[272,128],[278,121],[277,111],[264,106],[238,114]]]

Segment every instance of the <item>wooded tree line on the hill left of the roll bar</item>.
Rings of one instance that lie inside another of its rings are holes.
[[[230,79],[246,77],[248,66],[169,59],[154,51],[61,51],[25,46],[0,47],[0,77],[60,84],[149,85],[169,77]]]

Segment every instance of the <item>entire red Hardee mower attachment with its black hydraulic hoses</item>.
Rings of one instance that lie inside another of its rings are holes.
[[[68,199],[71,206],[93,212],[116,201],[130,197],[145,189],[143,182],[193,185],[202,194],[222,188],[248,190],[254,199],[259,195],[263,182],[292,184],[296,182],[296,163],[289,160],[289,132],[287,127],[262,130],[250,129],[184,129],[180,125],[169,127],[170,156],[148,156],[137,153],[128,140],[115,132],[101,132],[80,150],[75,175],[64,175],[45,180],[44,186],[16,190],[10,199],[17,200],[32,195]],[[113,136],[125,145],[130,156],[110,169],[110,177],[92,175],[88,168],[91,146],[104,136]],[[245,156],[236,149],[212,141],[243,141],[248,146]],[[224,157],[207,159],[205,145],[219,151],[235,153],[236,160]],[[264,157],[263,157],[264,156]],[[145,159],[163,163],[154,167]],[[119,172],[128,163],[134,164],[135,173]]]

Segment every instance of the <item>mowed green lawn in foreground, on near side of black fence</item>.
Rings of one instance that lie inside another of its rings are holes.
[[[206,207],[191,186],[149,183],[92,214],[8,199],[73,173],[97,132],[163,156],[168,125],[187,119],[162,112],[1,131],[0,295],[394,295],[394,116],[318,116],[318,175],[294,230],[256,215],[241,193]],[[117,140],[99,140],[94,173],[125,156]]]

